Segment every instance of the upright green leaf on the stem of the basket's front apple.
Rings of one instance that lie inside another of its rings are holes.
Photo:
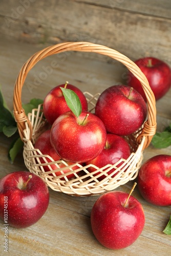
[[[65,100],[70,110],[74,113],[76,117],[79,118],[79,115],[82,111],[82,106],[78,95],[70,89],[65,89],[62,87],[60,87],[60,89],[62,90],[63,96],[65,97]]]

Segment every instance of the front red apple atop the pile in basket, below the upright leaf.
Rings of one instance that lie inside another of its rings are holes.
[[[87,162],[103,150],[106,130],[103,122],[94,114],[82,111],[78,118],[69,111],[54,121],[50,139],[62,159]]]

